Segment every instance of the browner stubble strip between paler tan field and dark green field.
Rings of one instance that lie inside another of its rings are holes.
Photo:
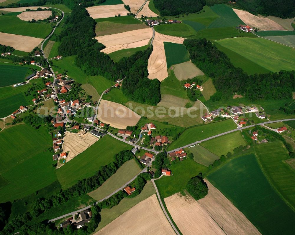
[[[208,180],[207,196],[198,200],[199,204],[208,212],[214,221],[223,226],[223,231],[228,235],[260,234],[255,226]],[[260,234],[261,235],[261,234]]]

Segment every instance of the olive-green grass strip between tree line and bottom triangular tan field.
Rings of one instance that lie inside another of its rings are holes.
[[[112,207],[112,209],[102,209],[101,221],[95,230],[96,232],[102,229],[104,226],[112,222],[118,216],[122,215],[124,212],[131,209],[133,206],[137,205],[141,201],[147,199],[155,193],[152,182],[148,181],[144,186],[143,190],[139,195],[133,198],[123,198],[117,206]]]

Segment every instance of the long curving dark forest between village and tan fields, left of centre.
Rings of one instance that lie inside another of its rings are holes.
[[[65,30],[58,36],[63,56],[77,55],[75,64],[87,75],[101,75],[111,81],[124,79],[122,91],[130,99],[156,105],[160,101],[160,82],[148,79],[148,58],[153,47],[138,51],[114,63],[103,52],[105,46],[94,39],[95,20],[85,8],[77,5],[65,21]]]

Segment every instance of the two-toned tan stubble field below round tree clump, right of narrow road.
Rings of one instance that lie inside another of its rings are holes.
[[[260,235],[242,212],[209,181],[205,182],[209,192],[203,199],[196,201],[190,195],[180,193],[164,199],[182,234]]]

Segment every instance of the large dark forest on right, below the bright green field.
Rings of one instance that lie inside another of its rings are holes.
[[[234,93],[250,101],[292,98],[295,71],[248,75],[235,67],[225,53],[206,39],[185,39],[192,62],[213,79],[217,91],[212,101],[226,100]]]

